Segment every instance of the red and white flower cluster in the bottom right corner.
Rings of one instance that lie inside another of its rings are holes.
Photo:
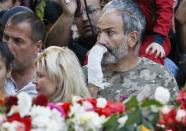
[[[186,129],[186,90],[181,89],[175,105],[164,105],[161,109],[159,126],[170,131]]]

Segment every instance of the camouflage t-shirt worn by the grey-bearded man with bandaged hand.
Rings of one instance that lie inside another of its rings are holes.
[[[104,70],[104,89],[99,90],[99,96],[113,101],[136,95],[139,100],[153,98],[155,89],[159,86],[167,88],[171,97],[178,92],[174,76],[162,65],[142,58],[136,67],[125,72]]]

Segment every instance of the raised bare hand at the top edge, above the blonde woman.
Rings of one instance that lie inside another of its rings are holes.
[[[63,13],[73,16],[77,9],[76,0],[59,0]]]

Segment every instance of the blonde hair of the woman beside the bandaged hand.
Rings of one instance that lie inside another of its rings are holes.
[[[57,82],[58,94],[53,102],[71,101],[72,96],[90,96],[76,55],[67,47],[51,46],[35,61],[50,79]]]

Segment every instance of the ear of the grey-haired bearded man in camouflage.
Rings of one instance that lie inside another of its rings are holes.
[[[138,41],[138,32],[136,31],[130,32],[128,35],[129,47],[133,48],[137,44],[137,41]]]

